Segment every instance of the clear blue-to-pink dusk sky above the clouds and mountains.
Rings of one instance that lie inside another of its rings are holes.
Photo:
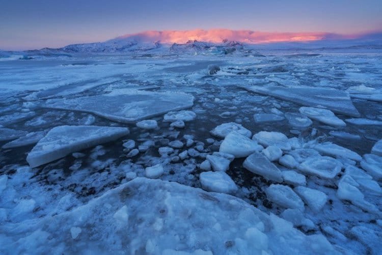
[[[0,49],[99,42],[142,31],[382,31],[382,0],[0,0]]]

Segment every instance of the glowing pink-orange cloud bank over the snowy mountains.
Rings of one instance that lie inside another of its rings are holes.
[[[160,41],[161,43],[185,43],[188,40],[219,43],[224,39],[229,41],[239,41],[251,44],[274,43],[274,42],[309,42],[320,40],[348,40],[358,39],[365,36],[359,35],[339,35],[324,32],[307,33],[271,33],[255,32],[250,30],[186,30],[186,31],[146,31],[137,34],[129,34],[116,38],[115,40],[135,39],[139,41]]]

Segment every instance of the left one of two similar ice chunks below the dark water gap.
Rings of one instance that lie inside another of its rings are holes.
[[[285,208],[305,210],[304,202],[301,198],[288,186],[281,184],[271,184],[265,189],[266,197]]]

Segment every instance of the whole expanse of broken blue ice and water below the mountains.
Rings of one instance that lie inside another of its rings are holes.
[[[0,54],[0,253],[381,254],[382,50],[177,47]]]

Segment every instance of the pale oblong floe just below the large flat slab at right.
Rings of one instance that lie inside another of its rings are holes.
[[[334,115],[333,111],[315,107],[300,107],[299,111],[311,118],[312,120],[316,120],[322,122],[324,124],[328,124],[331,126],[344,127],[346,123],[343,120],[337,118]]]

